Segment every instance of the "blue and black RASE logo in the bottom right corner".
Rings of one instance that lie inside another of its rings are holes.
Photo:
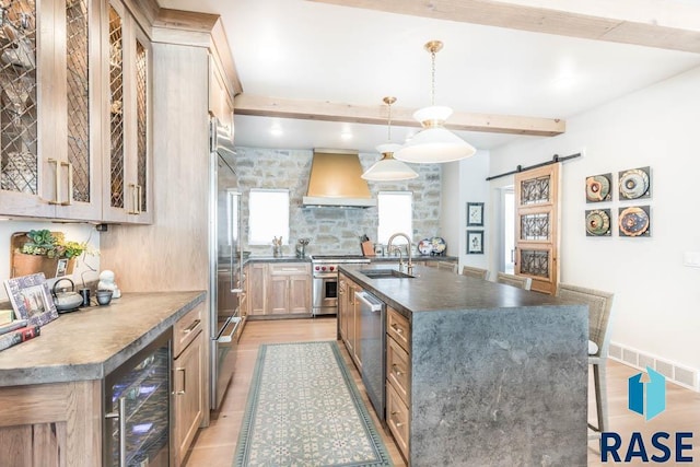
[[[643,373],[635,374],[628,380],[628,408],[643,416],[646,421],[666,410],[666,378],[663,374],[646,366],[649,381],[642,382]],[[672,440],[670,433],[658,431],[652,434],[651,440],[644,441],[640,432],[633,432],[627,448],[622,447],[622,437],[615,432],[600,433],[600,462],[629,463],[634,458],[644,463],[692,463],[691,432],[677,432]],[[648,453],[646,445],[651,444]],[[625,452],[623,460],[621,453]],[[675,453],[674,453],[675,452]]]

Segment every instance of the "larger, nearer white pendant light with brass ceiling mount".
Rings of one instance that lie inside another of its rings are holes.
[[[413,114],[423,128],[396,152],[395,157],[399,161],[422,164],[453,162],[477,152],[471,144],[443,126],[452,115],[452,108],[435,105],[435,54],[442,46],[440,40],[431,40],[424,46],[432,57],[432,101],[430,107]]]

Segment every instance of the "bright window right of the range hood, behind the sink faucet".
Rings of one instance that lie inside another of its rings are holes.
[[[410,191],[380,191],[377,195],[380,226],[377,242],[386,244],[397,232],[413,236],[413,194]],[[406,243],[397,238],[398,244]]]

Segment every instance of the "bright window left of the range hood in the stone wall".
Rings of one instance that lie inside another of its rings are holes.
[[[289,245],[289,190],[252,189],[248,207],[248,245],[271,245],[279,236]]]

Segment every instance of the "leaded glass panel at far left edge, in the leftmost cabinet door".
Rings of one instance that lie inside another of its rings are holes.
[[[0,3],[0,189],[38,195],[36,7]]]

